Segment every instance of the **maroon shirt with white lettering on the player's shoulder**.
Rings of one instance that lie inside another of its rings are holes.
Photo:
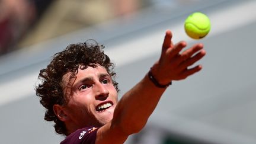
[[[60,144],[94,144],[96,140],[98,128],[95,127],[85,127],[78,129],[71,133],[65,140],[60,142]]]

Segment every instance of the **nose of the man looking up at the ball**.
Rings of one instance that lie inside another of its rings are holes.
[[[109,94],[108,89],[101,82],[98,82],[97,84],[94,85],[94,91],[95,91],[95,98],[97,100],[105,100]]]

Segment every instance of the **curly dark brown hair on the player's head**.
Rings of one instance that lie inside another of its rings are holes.
[[[85,43],[70,44],[62,52],[53,56],[52,62],[41,69],[39,79],[41,83],[36,87],[36,95],[40,103],[46,108],[44,120],[55,122],[55,131],[67,135],[65,123],[59,120],[53,111],[53,105],[65,105],[68,98],[65,97],[61,85],[62,76],[71,72],[71,76],[78,73],[79,66],[91,66],[98,63],[103,66],[113,79],[113,85],[119,91],[118,83],[114,80],[116,73],[113,71],[114,64],[104,54],[104,46],[99,45],[95,40],[87,40]]]

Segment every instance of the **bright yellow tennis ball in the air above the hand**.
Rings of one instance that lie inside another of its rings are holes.
[[[201,39],[210,31],[210,20],[201,12],[189,15],[184,24],[185,32],[193,39]]]

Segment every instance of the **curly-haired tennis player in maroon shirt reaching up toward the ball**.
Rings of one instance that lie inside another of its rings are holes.
[[[174,44],[171,38],[167,30],[159,60],[119,101],[116,73],[104,46],[88,40],[56,53],[40,71],[36,92],[46,108],[44,119],[54,121],[56,132],[66,136],[61,143],[124,143],[140,132],[172,81],[202,69],[191,66],[206,55],[203,44],[183,50],[186,42]]]

